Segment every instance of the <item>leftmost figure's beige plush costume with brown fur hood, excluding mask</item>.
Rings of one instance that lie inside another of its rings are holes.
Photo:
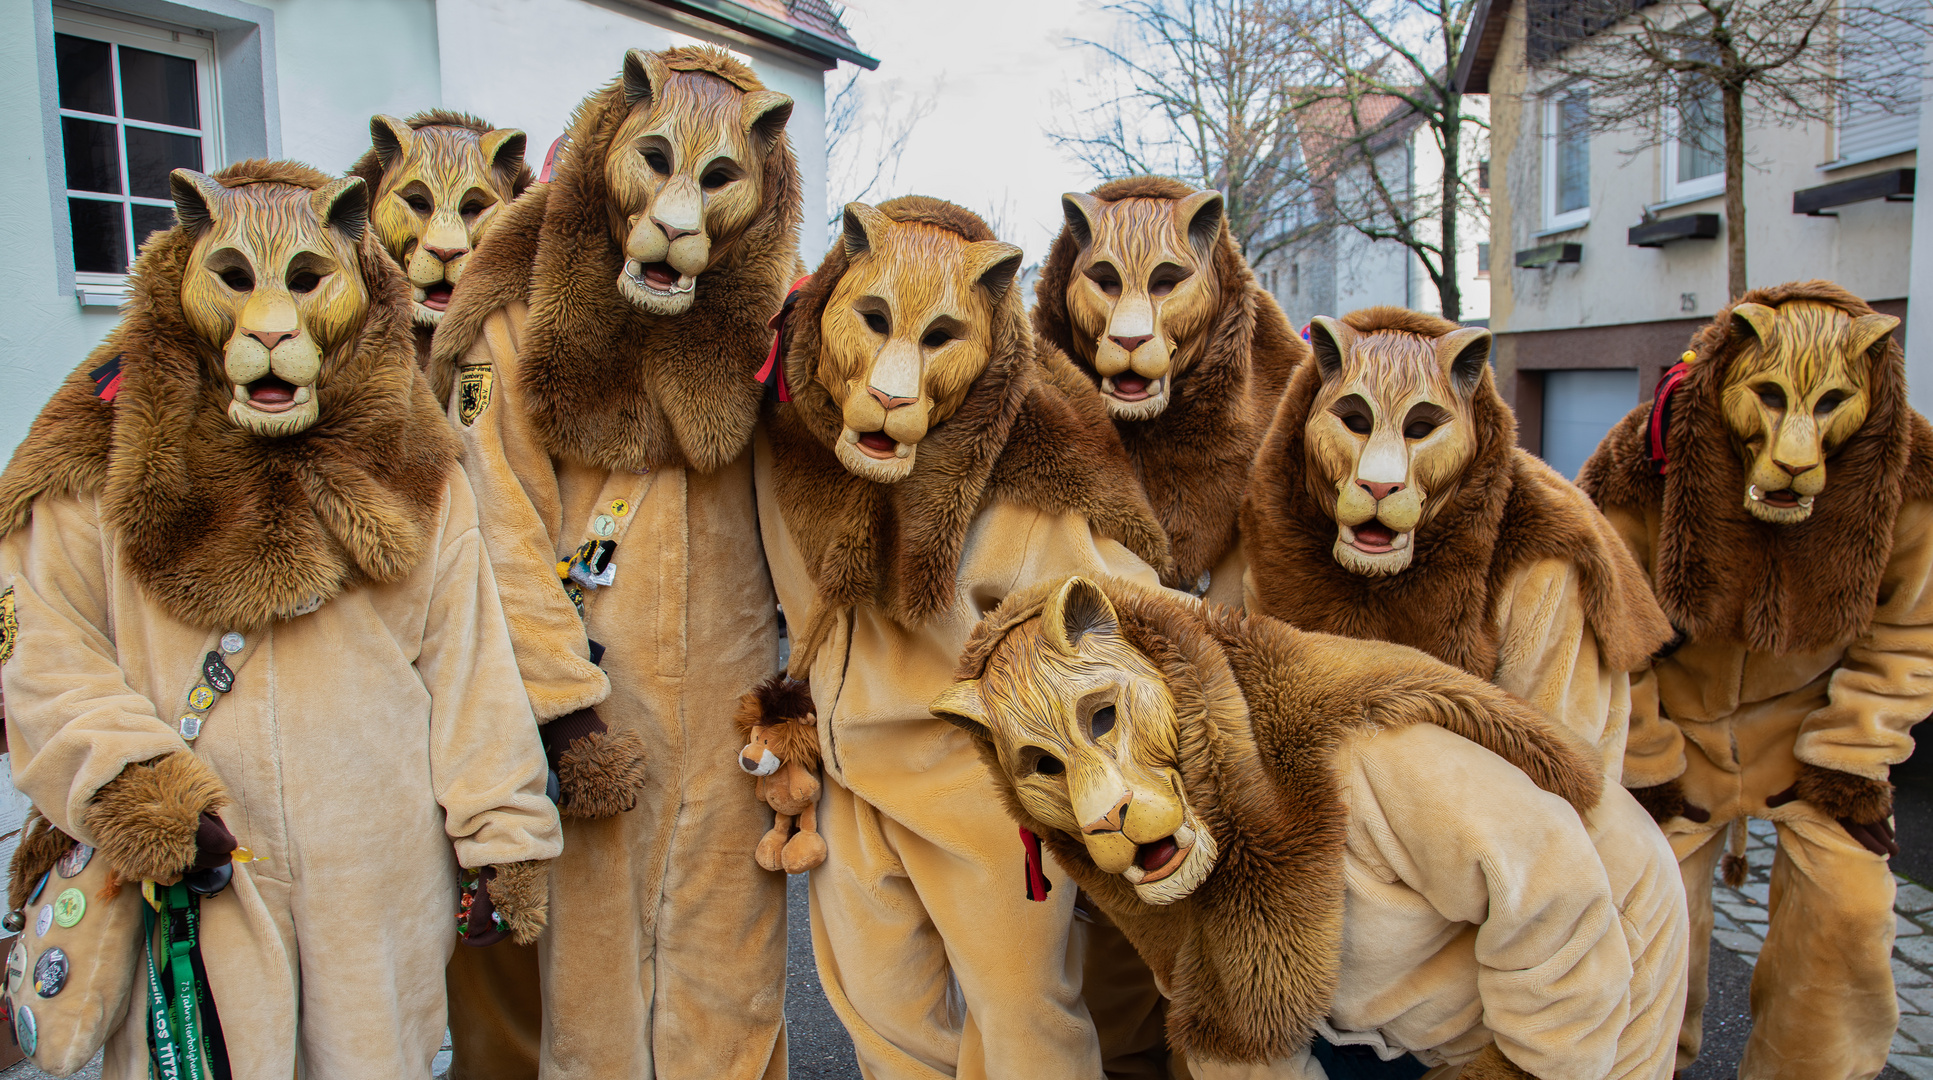
[[[284,162],[220,180],[226,199],[331,184]],[[191,245],[176,228],[143,247],[126,319],[0,477],[14,782],[131,877],[188,866],[201,810],[255,852],[201,904],[234,1076],[425,1076],[456,866],[559,852],[476,502],[373,238],[354,247],[369,311],[311,384],[319,415],[273,439],[228,419],[226,379],[209,386],[220,354],[180,298],[207,272]],[[89,377],[110,359],[112,392]],[[184,697],[224,632],[245,638],[234,688],[188,744]],[[137,991],[104,1076],[149,1076],[145,1018]]]

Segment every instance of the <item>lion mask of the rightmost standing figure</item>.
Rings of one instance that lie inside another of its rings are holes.
[[[1726,371],[1720,402],[1745,466],[1745,510],[1774,526],[1811,516],[1827,458],[1865,423],[1867,350],[1900,325],[1831,303],[1740,303],[1745,346]]]

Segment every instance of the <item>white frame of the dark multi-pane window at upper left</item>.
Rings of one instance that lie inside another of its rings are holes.
[[[182,56],[195,62],[195,97],[201,106],[201,129],[193,131],[188,128],[174,128],[168,124],[155,124],[149,120],[128,120],[120,116],[122,97],[120,97],[120,56],[112,66],[114,73],[114,108],[116,116],[104,116],[95,112],[77,112],[72,108],[60,108],[56,100],[54,124],[56,128],[64,118],[93,120],[99,124],[114,124],[114,141],[120,151],[120,176],[122,187],[130,184],[128,178],[128,137],[126,128],[143,128],[149,131],[168,131],[172,135],[195,135],[201,139],[201,170],[215,172],[222,168],[222,131],[220,131],[220,71],[215,62],[215,39],[207,31],[195,31],[188,27],[162,29],[153,23],[133,23],[124,19],[110,19],[106,15],[97,15],[95,12],[77,12],[73,8],[54,8],[54,33],[64,33],[72,37],[85,37],[93,41],[106,41],[116,46],[145,48],[149,52],[162,52],[168,56]],[[56,131],[56,137],[60,133]],[[64,184],[64,180],[62,180]],[[60,199],[60,222],[58,228],[72,230],[72,218],[66,214],[68,199],[93,199],[101,203],[118,203],[122,207],[122,228],[130,240],[130,247],[139,247],[141,238],[133,236],[133,218],[130,205],[145,207],[168,207],[174,209],[170,199],[151,199],[141,195],[104,195],[101,191],[75,191],[62,187]],[[72,243],[72,232],[70,232]],[[128,259],[130,269],[133,267],[133,257]],[[81,270],[75,267],[73,272],[73,292],[81,305],[114,305],[128,294],[128,274],[110,274],[99,270]]]

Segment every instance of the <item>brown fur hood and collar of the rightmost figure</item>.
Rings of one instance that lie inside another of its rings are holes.
[[[1755,288],[1736,303],[1790,299],[1873,311],[1821,280]],[[1865,423],[1827,458],[1827,498],[1796,526],[1759,522],[1744,508],[1745,468],[1720,406],[1744,346],[1736,303],[1691,338],[1697,363],[1672,394],[1666,429],[1670,471],[1651,468],[1647,402],[1610,429],[1577,485],[1604,508],[1660,514],[1653,587],[1686,636],[1767,653],[1834,649],[1873,620],[1900,504],[1933,498],[1933,427],[1906,406],[1906,354],[1887,334],[1873,346]]]

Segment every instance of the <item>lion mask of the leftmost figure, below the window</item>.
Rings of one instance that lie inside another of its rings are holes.
[[[195,238],[182,311],[222,357],[228,419],[255,435],[315,423],[325,357],[354,342],[369,311],[361,243],[367,187],[344,178],[309,191],[290,184],[224,187],[178,168],[174,213]]]

